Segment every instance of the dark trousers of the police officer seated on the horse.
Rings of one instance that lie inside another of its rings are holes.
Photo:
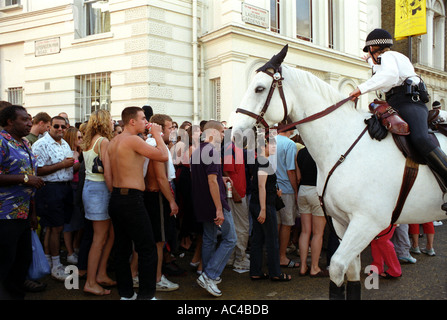
[[[428,109],[422,102],[414,102],[405,94],[394,94],[387,99],[410,127],[410,141],[412,146],[426,157],[437,146],[428,135]]]

